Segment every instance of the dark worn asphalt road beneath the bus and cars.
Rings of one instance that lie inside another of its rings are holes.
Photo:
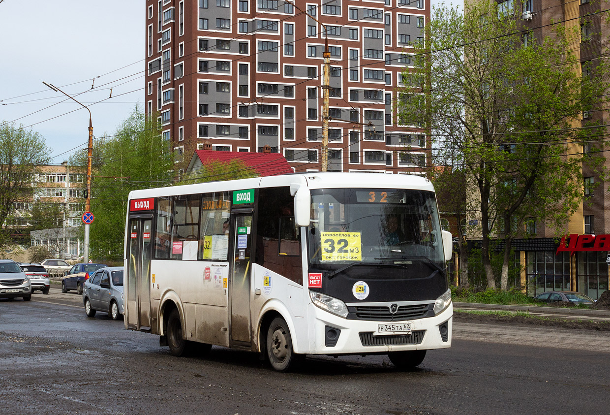
[[[605,414],[610,391],[608,333],[456,323],[412,372],[317,356],[279,374],[220,347],[176,358],[59,289],[0,300],[0,350],[0,413]]]

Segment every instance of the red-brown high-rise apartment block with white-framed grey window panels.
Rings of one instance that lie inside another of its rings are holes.
[[[168,148],[272,151],[295,171],[320,170],[328,35],[328,170],[420,173],[429,137],[397,124],[394,104],[429,0],[296,6],[307,14],[282,0],[146,1],[146,112]]]

